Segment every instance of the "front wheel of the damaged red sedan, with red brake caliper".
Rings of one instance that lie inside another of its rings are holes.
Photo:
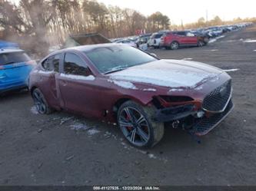
[[[128,113],[130,113],[129,116],[131,116],[130,120],[125,119],[124,116],[124,114],[127,114],[127,110]],[[131,100],[126,101],[119,107],[118,126],[125,139],[128,140],[132,146],[150,148],[155,146],[164,136],[165,125],[164,123],[155,122],[155,120],[153,120],[154,114],[154,107],[142,107],[140,104]],[[140,117],[138,117],[138,115],[140,115]],[[139,123],[137,123],[137,121],[139,121]]]

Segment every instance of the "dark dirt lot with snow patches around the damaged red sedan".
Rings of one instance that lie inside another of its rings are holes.
[[[26,92],[0,98],[0,184],[256,185],[256,27],[203,48],[152,50],[159,58],[202,61],[231,71],[234,110],[196,143],[166,129],[137,150],[116,126],[63,112],[36,114]],[[255,51],[254,51],[255,50]]]

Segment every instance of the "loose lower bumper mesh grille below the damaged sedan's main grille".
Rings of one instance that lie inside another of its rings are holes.
[[[208,133],[214,126],[222,120],[228,112],[232,109],[233,103],[232,100],[229,101],[226,109],[220,114],[214,114],[211,117],[203,117],[193,128],[193,133],[204,135]]]

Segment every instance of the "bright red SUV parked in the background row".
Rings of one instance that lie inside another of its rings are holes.
[[[180,46],[203,46],[204,41],[191,31],[170,31],[161,37],[160,47],[175,50]]]

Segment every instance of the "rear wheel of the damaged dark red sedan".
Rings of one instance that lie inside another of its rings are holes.
[[[47,101],[45,100],[44,95],[42,94],[42,91],[40,91],[38,88],[35,88],[32,91],[32,98],[35,103],[35,107],[38,110],[39,114],[51,114],[52,108],[49,107]]]

